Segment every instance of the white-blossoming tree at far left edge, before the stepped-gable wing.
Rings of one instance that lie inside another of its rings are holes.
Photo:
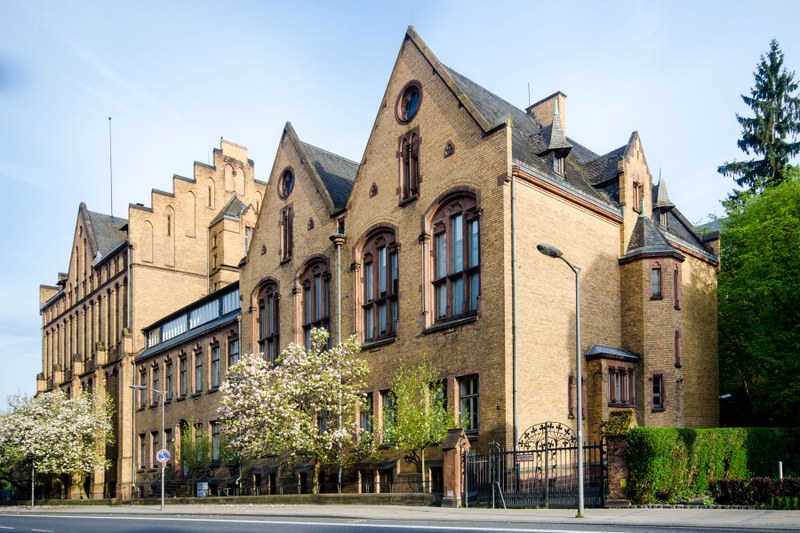
[[[85,475],[105,468],[105,447],[113,441],[112,406],[106,398],[46,392],[9,398],[0,417],[0,458],[28,464],[37,472]]]

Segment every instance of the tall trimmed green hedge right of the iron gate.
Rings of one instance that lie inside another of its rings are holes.
[[[792,440],[769,428],[635,427],[627,437],[628,498],[679,501],[707,494],[713,479],[777,475]]]

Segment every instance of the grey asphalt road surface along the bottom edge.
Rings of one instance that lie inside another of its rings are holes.
[[[654,526],[598,525],[598,524],[513,524],[508,522],[485,523],[450,521],[393,521],[369,519],[292,518],[292,517],[231,517],[231,516],[99,516],[53,514],[0,514],[0,533],[5,531],[37,533],[388,533],[412,532],[518,532],[531,533],[716,533],[731,531],[726,528],[662,528]],[[738,533],[764,531],[763,529],[736,529]]]

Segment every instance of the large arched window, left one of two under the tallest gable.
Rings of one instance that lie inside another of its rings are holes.
[[[383,231],[372,236],[364,246],[362,261],[364,341],[394,337],[399,316],[399,268],[394,233]]]

